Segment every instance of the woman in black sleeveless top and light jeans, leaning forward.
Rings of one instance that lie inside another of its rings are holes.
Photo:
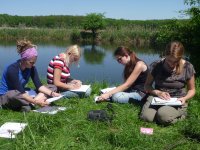
[[[145,95],[144,83],[148,74],[147,65],[137,58],[133,51],[124,46],[118,47],[114,56],[120,64],[125,66],[125,81],[115,89],[100,95],[98,101],[107,101],[109,98],[119,103],[141,101]]]

